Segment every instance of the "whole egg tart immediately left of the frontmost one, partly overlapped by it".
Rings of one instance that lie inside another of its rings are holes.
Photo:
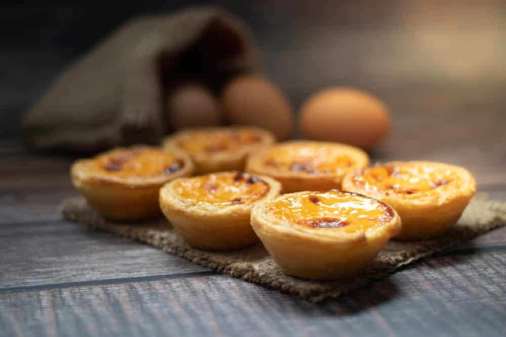
[[[160,207],[193,247],[234,250],[258,242],[251,207],[279,195],[276,180],[239,171],[176,179],[160,190]]]

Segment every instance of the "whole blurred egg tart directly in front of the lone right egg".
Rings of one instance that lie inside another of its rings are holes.
[[[362,150],[340,143],[286,141],[252,154],[246,171],[275,178],[283,192],[341,188],[348,172],[369,165]]]

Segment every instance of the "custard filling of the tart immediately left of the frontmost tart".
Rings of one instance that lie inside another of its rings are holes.
[[[247,173],[225,172],[181,179],[175,190],[197,203],[233,205],[259,200],[269,191],[269,184]]]

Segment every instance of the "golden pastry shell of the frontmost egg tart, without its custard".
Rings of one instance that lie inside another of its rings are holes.
[[[281,270],[287,275],[314,279],[341,279],[362,271],[400,232],[401,220],[392,210],[391,221],[363,232],[314,230],[293,225],[268,212],[282,195],[258,203],[251,211],[251,225]],[[367,198],[363,196],[364,198]],[[385,205],[390,208],[390,206]]]

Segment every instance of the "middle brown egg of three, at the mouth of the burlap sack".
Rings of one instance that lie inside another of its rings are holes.
[[[290,102],[274,83],[260,75],[232,79],[223,90],[221,103],[233,124],[265,128],[279,140],[291,136],[293,108]]]

